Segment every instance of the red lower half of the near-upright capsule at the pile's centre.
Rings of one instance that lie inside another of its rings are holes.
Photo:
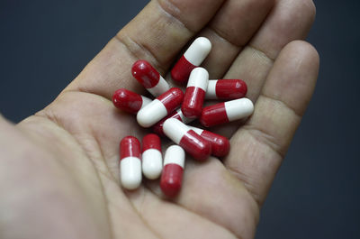
[[[185,117],[194,119],[202,115],[203,99],[205,91],[200,87],[186,87],[181,111]]]

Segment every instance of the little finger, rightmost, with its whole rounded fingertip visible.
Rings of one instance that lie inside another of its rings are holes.
[[[308,105],[319,70],[317,51],[289,43],[266,79],[254,115],[231,138],[224,161],[261,205]]]

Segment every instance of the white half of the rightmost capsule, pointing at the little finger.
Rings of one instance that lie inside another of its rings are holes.
[[[254,104],[248,98],[234,99],[225,102],[225,111],[231,122],[253,114]]]

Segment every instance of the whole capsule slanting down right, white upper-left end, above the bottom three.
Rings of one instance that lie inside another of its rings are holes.
[[[211,154],[211,144],[199,134],[193,132],[183,122],[170,118],[164,122],[165,135],[176,144],[180,145],[195,160],[205,161]]]

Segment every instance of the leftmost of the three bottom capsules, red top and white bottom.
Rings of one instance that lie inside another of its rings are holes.
[[[120,142],[120,179],[123,188],[136,189],[141,183],[140,142],[126,136]]]

